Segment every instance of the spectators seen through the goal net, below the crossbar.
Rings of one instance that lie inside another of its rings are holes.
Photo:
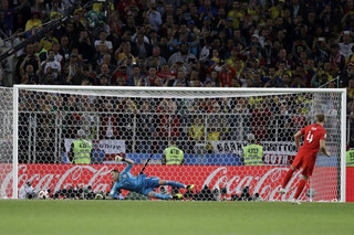
[[[339,141],[339,95],[310,93],[183,99],[25,92],[19,105],[19,158],[27,161],[31,150],[37,161],[55,162],[53,152],[65,151],[55,145],[81,138],[80,130],[93,142],[125,140],[126,153],[162,153],[169,140],[185,153],[228,152],[214,143],[241,143],[248,133],[258,142],[290,142],[313,121],[313,108],[326,115],[327,132]]]

